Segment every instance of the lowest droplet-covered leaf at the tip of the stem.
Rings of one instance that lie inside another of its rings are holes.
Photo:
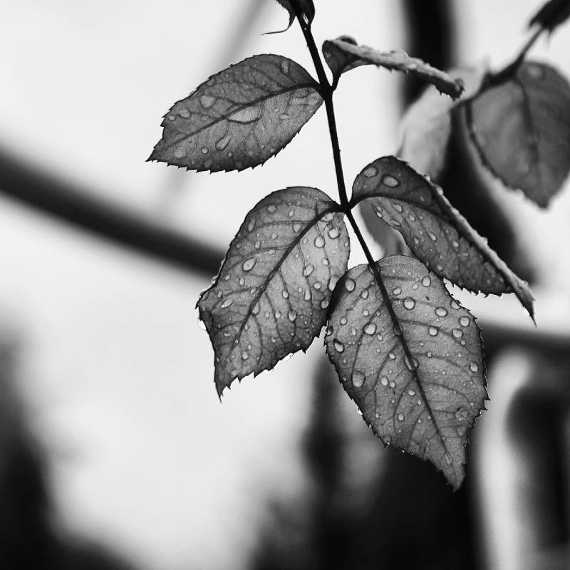
[[[354,267],[338,284],[326,351],[385,444],[430,460],[457,489],[487,399],[480,328],[417,259]]]

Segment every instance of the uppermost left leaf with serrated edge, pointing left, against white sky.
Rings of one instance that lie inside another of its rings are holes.
[[[175,103],[149,160],[188,170],[244,170],[283,149],[323,103],[298,63],[265,54],[212,76]]]

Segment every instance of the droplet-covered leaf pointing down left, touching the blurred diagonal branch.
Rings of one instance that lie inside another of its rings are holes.
[[[198,301],[221,395],[235,378],[305,351],[326,322],[350,251],[340,206],[316,188],[278,190],[252,209]]]

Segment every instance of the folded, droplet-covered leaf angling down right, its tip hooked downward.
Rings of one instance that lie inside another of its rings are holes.
[[[402,234],[413,254],[437,276],[470,291],[513,291],[531,317],[532,294],[440,187],[393,156],[378,158],[354,181],[351,204],[368,200],[376,215]]]

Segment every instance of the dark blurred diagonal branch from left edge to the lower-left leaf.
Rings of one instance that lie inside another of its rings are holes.
[[[187,271],[212,276],[224,252],[97,197],[0,148],[0,192],[73,226]]]

